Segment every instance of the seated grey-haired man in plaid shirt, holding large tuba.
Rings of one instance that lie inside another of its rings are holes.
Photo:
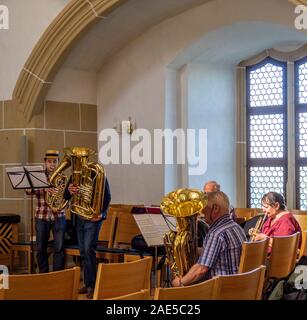
[[[208,204],[203,209],[209,231],[204,250],[189,272],[181,279],[176,277],[173,286],[184,286],[210,279],[217,275],[238,272],[244,230],[229,217],[229,199],[223,192],[208,193]]]

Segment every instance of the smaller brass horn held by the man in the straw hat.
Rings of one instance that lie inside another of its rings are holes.
[[[58,174],[52,174],[49,183],[52,184],[55,188],[54,192],[46,192],[45,194],[45,200],[48,205],[48,207],[53,212],[58,212],[63,210],[68,201],[64,199],[64,192],[67,185],[68,178],[65,174],[61,173],[61,171],[65,170],[67,167],[67,161],[69,159],[64,159],[61,161],[61,164],[57,167],[56,171],[58,171]],[[64,168],[64,169],[63,169]]]

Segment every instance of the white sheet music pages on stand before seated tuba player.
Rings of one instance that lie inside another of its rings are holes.
[[[148,246],[164,245],[163,236],[170,231],[170,227],[162,214],[144,213],[134,214],[133,216]],[[174,219],[172,229],[176,230],[176,219],[170,216],[169,218]]]

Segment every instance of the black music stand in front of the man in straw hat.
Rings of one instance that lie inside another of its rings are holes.
[[[9,167],[5,169],[10,183],[14,190],[19,189],[31,189],[34,192],[34,189],[50,188],[50,185],[47,181],[45,170],[43,166],[20,166],[20,167]],[[33,266],[33,195],[31,195],[31,266]],[[31,270],[32,272],[32,270]]]

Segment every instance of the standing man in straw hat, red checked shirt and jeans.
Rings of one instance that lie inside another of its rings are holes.
[[[47,180],[59,164],[59,151],[47,150],[44,158]],[[66,228],[65,211],[52,211],[46,202],[46,193],[54,193],[54,188],[26,190],[27,195],[35,195],[37,206],[35,211],[35,231],[37,246],[37,263],[40,273],[49,272],[48,240],[50,230],[53,233],[53,271],[64,269],[64,236]]]

